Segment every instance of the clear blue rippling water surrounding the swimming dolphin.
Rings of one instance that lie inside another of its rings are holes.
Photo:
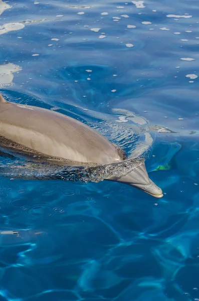
[[[198,0],[0,1],[0,14],[6,98],[88,122],[127,152],[146,130],[129,112],[174,132],[151,130],[162,199],[2,174],[0,300],[199,300]]]

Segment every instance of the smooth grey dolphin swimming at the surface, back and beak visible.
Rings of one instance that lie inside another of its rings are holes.
[[[0,145],[82,165],[124,160],[119,147],[88,125],[56,111],[7,101],[1,93]],[[105,180],[133,186],[156,198],[163,196],[149,179],[144,162],[139,161],[124,176]]]

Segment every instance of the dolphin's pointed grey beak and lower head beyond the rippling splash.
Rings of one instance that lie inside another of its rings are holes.
[[[162,190],[149,179],[144,163],[138,165],[125,176],[111,177],[107,180],[130,185],[155,198],[163,197]]]

